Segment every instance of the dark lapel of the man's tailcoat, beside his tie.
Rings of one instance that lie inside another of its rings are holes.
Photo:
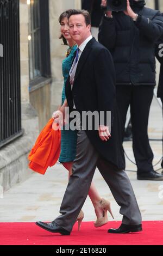
[[[91,48],[92,48],[92,44],[93,42],[95,42],[96,39],[92,38],[87,45],[84,48],[84,51],[82,52],[82,55],[80,56],[79,62],[78,62],[78,66],[77,66],[77,70],[76,70],[76,75],[74,77],[74,83],[77,80],[78,75],[80,74],[80,71],[82,70],[83,65],[86,63],[86,59],[89,56],[89,53],[91,52]],[[74,86],[73,86],[74,87]]]

